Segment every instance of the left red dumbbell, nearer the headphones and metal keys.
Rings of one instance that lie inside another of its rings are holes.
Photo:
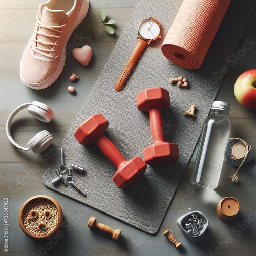
[[[134,184],[145,172],[146,164],[140,157],[125,160],[116,146],[103,134],[109,126],[102,114],[90,116],[75,131],[75,138],[82,145],[95,142],[103,154],[117,167],[113,181],[120,188]]]

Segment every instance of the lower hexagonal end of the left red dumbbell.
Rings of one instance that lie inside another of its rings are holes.
[[[134,184],[145,172],[146,164],[140,157],[134,157],[118,168],[113,181],[119,188],[127,188]]]

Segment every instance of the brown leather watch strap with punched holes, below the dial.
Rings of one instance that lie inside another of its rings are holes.
[[[145,41],[141,38],[138,39],[137,44],[136,44],[131,56],[129,57],[129,60],[125,64],[121,74],[119,75],[119,77],[117,79],[117,82],[116,82],[116,85],[115,85],[116,91],[120,91],[122,89],[126,78],[128,77],[128,75],[131,72],[133,66],[135,65],[135,63],[138,60],[141,53],[144,51],[147,44],[148,44],[147,41]]]

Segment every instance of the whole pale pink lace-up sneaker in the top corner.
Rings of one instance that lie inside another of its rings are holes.
[[[33,89],[49,87],[60,75],[67,42],[89,9],[89,0],[48,0],[40,4],[35,31],[20,62],[20,78]]]

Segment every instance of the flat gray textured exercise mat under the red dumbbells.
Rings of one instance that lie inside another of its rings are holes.
[[[42,176],[46,186],[148,233],[156,233],[159,229],[224,78],[223,67],[229,66],[256,5],[254,0],[233,0],[203,65],[197,70],[186,70],[166,59],[160,50],[181,3],[167,0],[138,2],[61,143],[65,150],[66,165],[75,163],[86,168],[85,174],[73,172],[73,177],[75,184],[87,193],[87,197],[83,197],[70,185],[64,186],[61,181],[52,185],[51,180],[56,177],[55,169],[59,167],[60,156],[50,162]],[[147,47],[124,89],[116,92],[116,79],[137,41],[137,26],[148,17],[154,17],[162,23],[162,38]],[[179,88],[169,83],[170,77],[179,75],[189,80],[189,88]],[[116,167],[94,143],[80,145],[74,138],[74,132],[89,116],[102,113],[109,121],[105,135],[123,156],[126,159],[135,156],[143,159],[143,149],[152,144],[152,138],[148,114],[137,109],[136,95],[145,88],[156,86],[170,93],[171,104],[162,111],[163,131],[166,141],[178,144],[180,158],[172,164],[148,166],[143,177],[134,185],[124,190],[119,189],[112,180]],[[194,119],[183,115],[191,104],[197,105]]]

